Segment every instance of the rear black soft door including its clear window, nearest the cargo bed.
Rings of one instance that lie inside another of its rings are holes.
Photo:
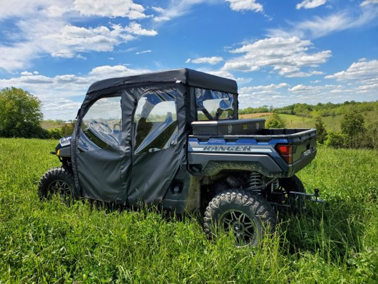
[[[133,118],[130,204],[162,200],[178,168],[177,91],[141,88]]]

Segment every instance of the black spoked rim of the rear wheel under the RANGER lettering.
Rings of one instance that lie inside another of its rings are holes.
[[[256,222],[239,210],[226,211],[220,218],[226,232],[232,230],[239,245],[254,243],[257,238]]]

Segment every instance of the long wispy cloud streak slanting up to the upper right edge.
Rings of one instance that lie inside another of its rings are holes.
[[[378,16],[378,8],[361,9],[361,11],[343,11],[325,17],[313,17],[302,22],[290,22],[288,28],[268,30],[270,37],[319,38],[330,33],[358,28],[366,25]]]

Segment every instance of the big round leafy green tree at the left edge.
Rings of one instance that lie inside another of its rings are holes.
[[[42,117],[37,97],[15,87],[0,90],[0,136],[46,138],[47,131],[40,127]]]

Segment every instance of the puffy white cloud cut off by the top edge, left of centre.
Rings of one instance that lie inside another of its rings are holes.
[[[132,0],[75,0],[73,9],[84,16],[127,17],[143,19],[144,7]]]

